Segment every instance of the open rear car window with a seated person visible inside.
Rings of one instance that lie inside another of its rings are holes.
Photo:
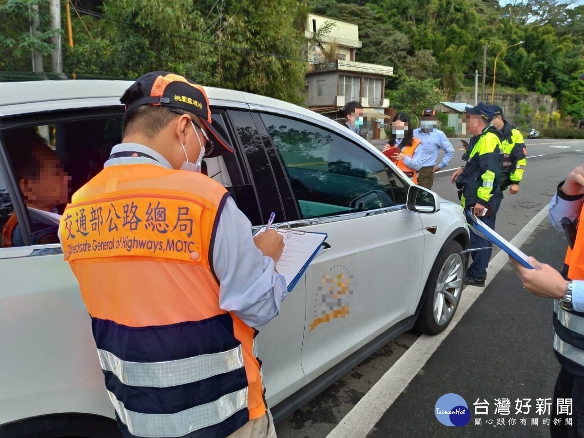
[[[71,194],[103,169],[121,140],[121,117],[27,124],[0,134],[28,213],[6,221],[2,246],[25,246],[23,220],[30,225],[30,244],[58,244],[60,214]]]

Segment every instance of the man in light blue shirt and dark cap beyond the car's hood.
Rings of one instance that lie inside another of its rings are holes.
[[[422,141],[422,168],[418,172],[418,185],[431,190],[434,185],[434,172],[444,169],[454,155],[454,147],[442,131],[437,128],[436,111],[428,108],[422,112],[422,126],[413,131],[413,136]],[[436,165],[440,150],[444,158]]]

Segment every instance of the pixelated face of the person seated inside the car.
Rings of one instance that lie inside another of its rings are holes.
[[[57,154],[46,145],[37,145],[33,153],[40,164],[40,172],[20,180],[26,204],[39,210],[67,204],[71,178],[62,168]]]

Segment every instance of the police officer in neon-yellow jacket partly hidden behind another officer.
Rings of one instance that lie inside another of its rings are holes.
[[[523,141],[523,135],[503,119],[503,109],[493,105],[492,110],[495,113],[492,124],[500,131],[501,144],[503,145],[501,190],[504,192],[509,187],[510,194],[517,194],[527,165],[527,148]]]

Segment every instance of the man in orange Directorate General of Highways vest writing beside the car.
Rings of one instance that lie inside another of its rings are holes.
[[[120,99],[123,142],[60,225],[124,438],[275,437],[256,327],[286,281],[276,231],[255,240],[229,193],[200,173],[234,150],[204,89],[168,72]]]

